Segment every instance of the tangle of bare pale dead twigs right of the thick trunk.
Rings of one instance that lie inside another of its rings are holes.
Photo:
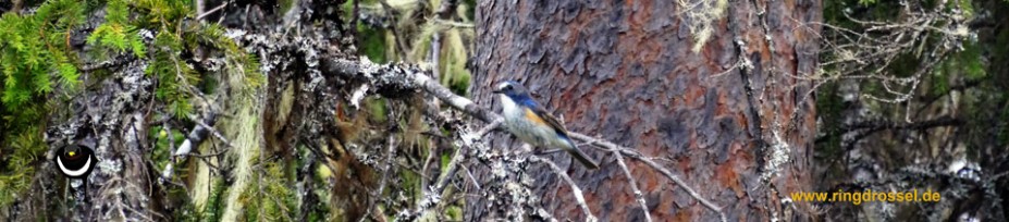
[[[824,28],[822,36],[809,33],[820,37],[824,51],[828,52],[821,66],[829,69],[816,75],[793,77],[824,82],[875,81],[884,90],[882,95],[864,95],[870,99],[899,103],[913,98],[923,82],[922,73],[932,71],[947,51],[962,49],[962,42],[975,34],[970,30],[965,18],[969,16],[964,16],[962,10],[948,10],[947,4],[934,9],[912,5],[908,1],[900,1],[900,4],[903,5],[899,9],[901,15],[896,21],[866,21],[844,13],[853,27],[811,23]],[[921,60],[915,73],[908,77],[898,76],[889,69],[903,57]]]

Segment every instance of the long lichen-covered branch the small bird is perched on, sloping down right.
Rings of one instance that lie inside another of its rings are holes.
[[[376,88],[376,91],[379,94],[404,92],[421,89],[428,94],[431,94],[435,98],[445,101],[445,103],[452,108],[463,111],[483,122],[495,123],[503,121],[502,116],[497,113],[491,112],[490,110],[473,103],[472,100],[453,94],[451,90],[448,90],[448,88],[445,88],[438,82],[431,79],[431,77],[428,75],[424,75],[424,71],[421,71],[416,65],[406,65],[402,63],[380,65],[374,64],[364,58],[361,61],[330,59],[322,61],[322,71],[327,74],[334,74],[352,79],[367,82],[368,84],[371,84]],[[694,192],[690,185],[680,180],[679,176],[673,174],[673,172],[668,169],[648,158],[642,157],[641,153],[638,153],[633,149],[576,132],[568,132],[568,134],[571,138],[591,144],[593,146],[605,148],[607,151],[619,151],[619,153],[625,157],[644,162],[647,165],[655,169],[670,181],[673,181],[673,183],[684,188],[684,190],[697,199],[698,202],[700,202],[702,206],[717,213],[721,221],[726,221],[725,213],[722,212],[721,207],[715,206],[710,200],[701,197],[701,195]]]

